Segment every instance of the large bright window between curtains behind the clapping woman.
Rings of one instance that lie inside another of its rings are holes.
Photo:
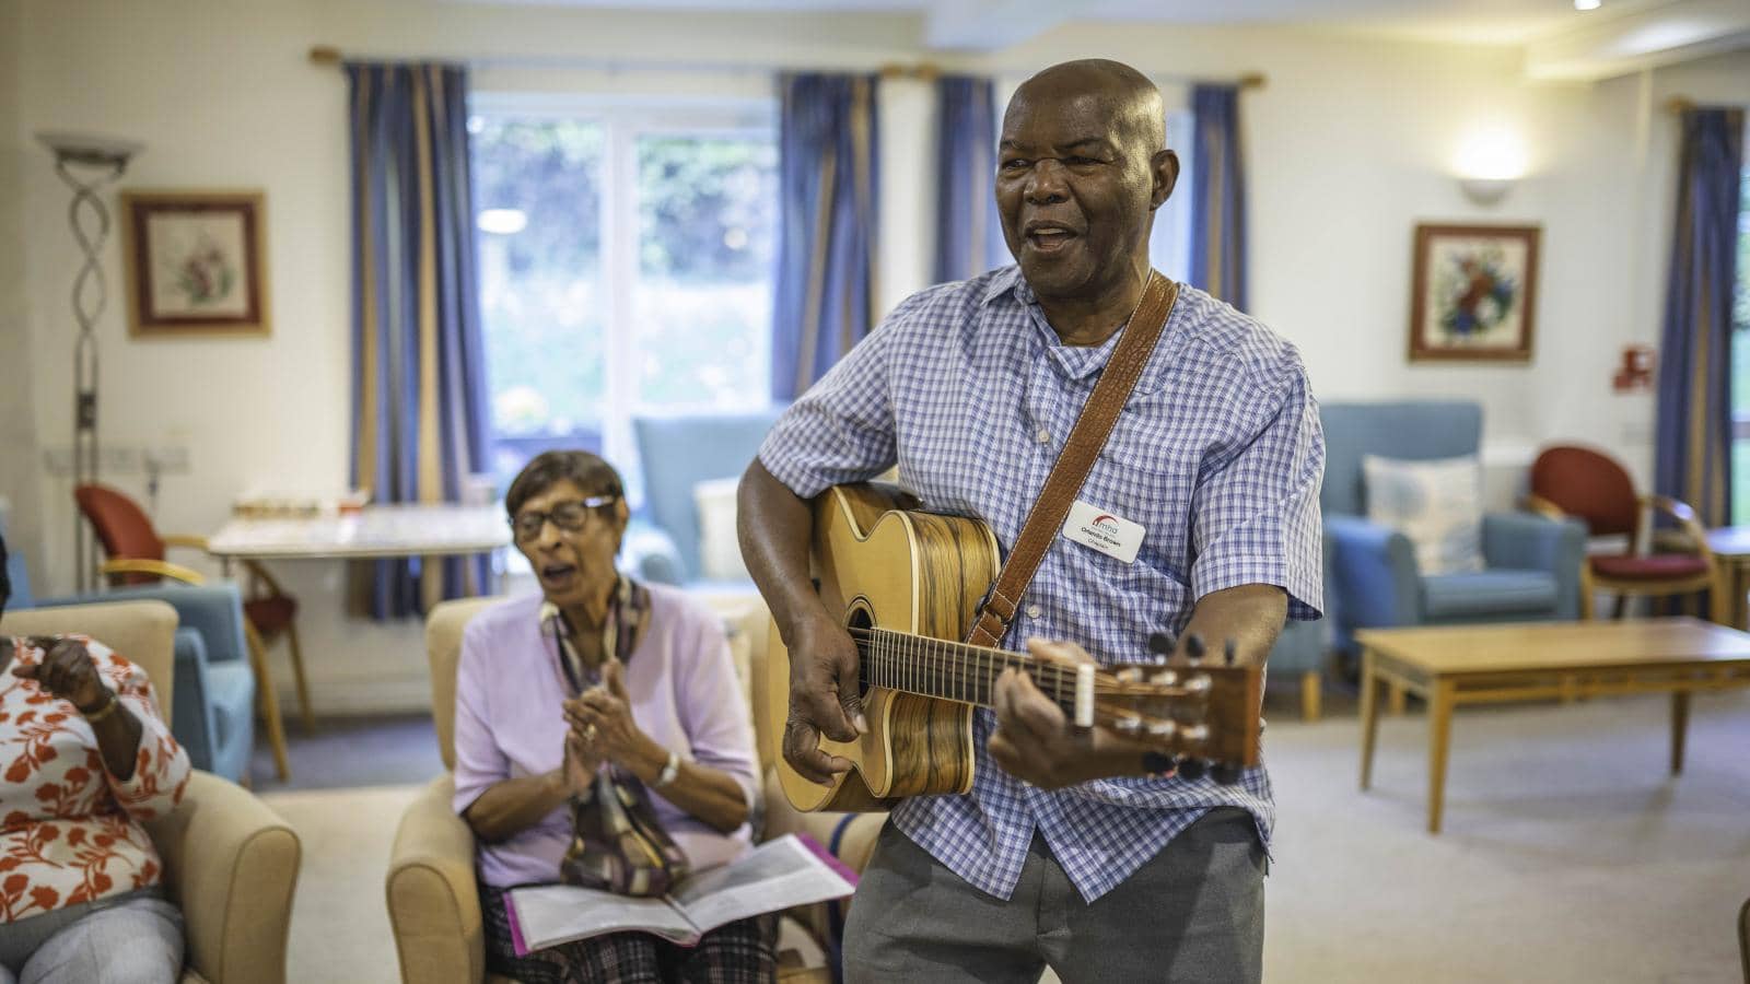
[[[478,96],[469,130],[499,488],[588,448],[637,501],[635,415],[768,401],[774,107]]]

